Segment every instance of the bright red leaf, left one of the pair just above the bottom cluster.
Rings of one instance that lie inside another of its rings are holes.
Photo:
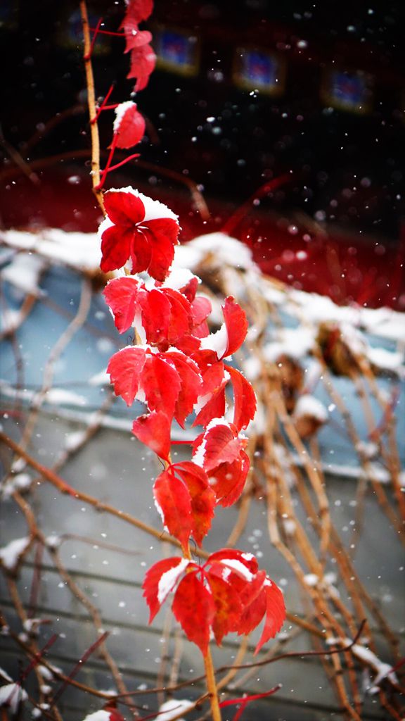
[[[169,468],[156,478],[153,496],[169,534],[187,549],[193,525],[189,490]]]

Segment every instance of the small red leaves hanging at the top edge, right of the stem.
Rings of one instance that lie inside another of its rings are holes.
[[[148,19],[153,9],[152,0],[129,0],[121,28],[125,35],[125,53],[130,53],[128,78],[136,78],[134,90],[146,88],[149,76],[156,65],[156,55],[151,48],[151,33],[139,30],[139,23]]]

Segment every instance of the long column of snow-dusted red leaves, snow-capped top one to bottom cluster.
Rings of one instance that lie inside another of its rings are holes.
[[[147,282],[129,275],[113,278],[104,290],[118,331],[135,327],[143,344],[112,355],[107,371],[115,394],[128,406],[135,399],[146,404],[147,412],[133,421],[133,433],[166,462],[153,496],[165,528],[188,556],[190,538],[202,544],[215,506],[236,502],[249,470],[241,430],[254,417],[256,398],[242,373],[224,362],[244,342],[246,314],[234,298],[226,298],[223,324],[210,333],[211,305],[196,295],[197,278],[187,276],[179,287],[177,276],[176,288],[171,287],[177,216],[132,188],[110,190],[104,204],[102,270],[116,270],[129,261],[133,273],[151,276]],[[231,422],[224,417],[229,387]],[[184,428],[192,412],[193,425],[203,432],[192,443],[192,460],[172,464],[172,421]],[[173,594],[174,615],[204,654],[211,632],[221,644],[228,632],[249,634],[265,616],[259,650],[285,617],[280,589],[251,554],[241,551],[214,553],[202,567],[188,558],[165,559],[148,571],[143,588],[151,620]]]

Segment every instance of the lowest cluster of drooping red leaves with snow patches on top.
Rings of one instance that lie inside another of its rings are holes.
[[[178,557],[153,565],[143,582],[150,622],[170,594],[174,616],[204,655],[211,632],[221,645],[226,634],[249,634],[265,616],[257,653],[285,619],[280,588],[259,570],[252,554],[236,549],[211,554],[203,566]]]

